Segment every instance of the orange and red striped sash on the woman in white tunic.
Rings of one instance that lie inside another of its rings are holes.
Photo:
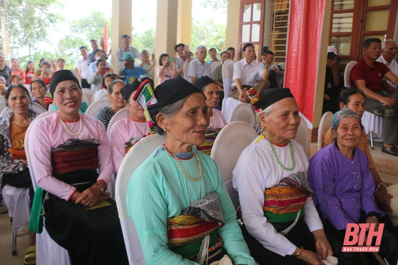
[[[304,172],[299,172],[284,177],[277,185],[265,189],[263,210],[272,214],[294,213],[304,207],[307,197],[312,196]]]

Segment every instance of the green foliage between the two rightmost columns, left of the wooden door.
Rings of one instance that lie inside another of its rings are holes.
[[[192,35],[191,35],[191,52],[196,52],[196,47],[199,45],[204,45],[207,51],[210,48],[215,48],[217,50],[218,59],[220,58],[220,53],[225,51],[225,39],[226,39],[226,25],[217,24],[213,20],[199,21],[192,20]],[[209,62],[210,56],[207,52],[206,62]]]

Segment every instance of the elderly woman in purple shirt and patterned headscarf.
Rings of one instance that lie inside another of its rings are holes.
[[[374,223],[377,230],[379,222],[384,223],[387,218],[373,197],[375,182],[369,161],[365,153],[355,147],[362,129],[356,112],[347,108],[336,112],[332,123],[334,144],[319,150],[309,161],[308,183],[315,193],[312,199],[323,228],[340,242],[344,241],[348,223]],[[397,264],[397,249],[397,240],[385,226],[379,255],[389,264]],[[370,264],[377,263],[371,261]]]

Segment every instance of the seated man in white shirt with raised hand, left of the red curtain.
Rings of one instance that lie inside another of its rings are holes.
[[[249,99],[243,88],[253,87],[256,91],[260,91],[270,87],[270,82],[268,81],[269,59],[268,54],[263,54],[261,56],[261,61],[265,68],[254,61],[256,52],[254,45],[251,43],[246,43],[245,46],[243,46],[242,52],[244,58],[236,62],[233,66],[232,89],[230,94],[232,98],[246,103]],[[262,80],[262,82],[258,82],[256,85],[258,80]]]

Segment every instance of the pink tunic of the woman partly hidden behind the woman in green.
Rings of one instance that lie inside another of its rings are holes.
[[[149,135],[148,125],[145,121],[140,122],[132,120],[130,117],[124,117],[112,125],[108,133],[108,140],[115,174],[126,155],[126,143],[144,135]]]

